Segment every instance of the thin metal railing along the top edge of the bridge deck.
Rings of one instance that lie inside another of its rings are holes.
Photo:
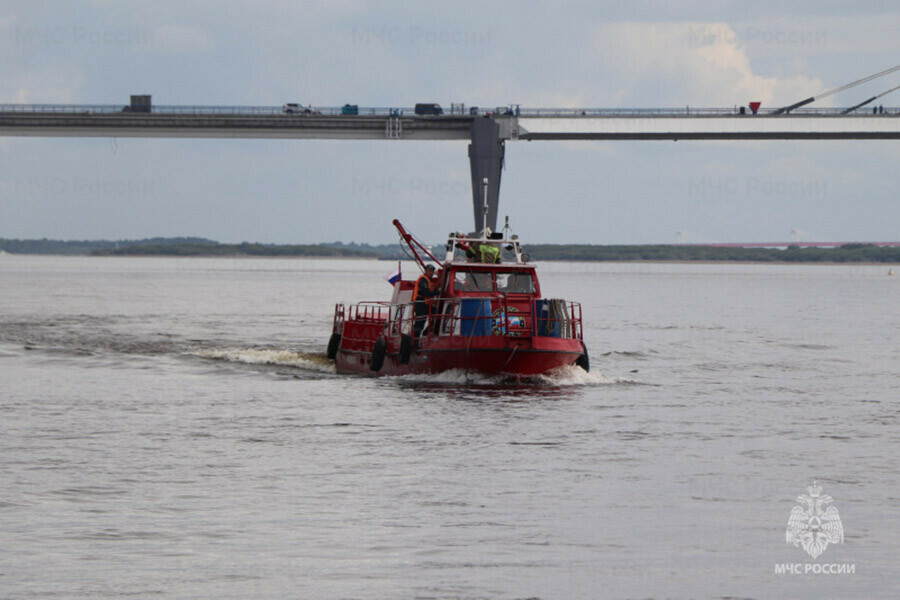
[[[222,115],[222,116],[274,116],[304,117],[304,116],[346,116],[340,106],[300,106],[287,112],[282,106],[169,106],[153,105],[150,114],[162,115]],[[762,108],[760,116],[773,116],[777,108]],[[825,117],[841,116],[845,108],[799,108],[791,111],[793,117]],[[308,112],[307,112],[308,111]],[[747,118],[754,115],[749,110],[745,111]],[[135,112],[130,105],[122,104],[0,104],[0,113],[20,114],[147,114]],[[372,117],[412,117],[415,109],[412,107],[364,107],[356,110],[356,115]],[[622,117],[622,118],[654,118],[654,117],[733,117],[740,114],[740,107],[731,108],[703,108],[703,107],[679,107],[679,108],[519,108],[493,107],[463,108],[451,113],[444,112],[445,116],[484,116],[484,115],[511,115],[519,117]],[[896,116],[900,114],[898,108],[885,108],[884,112],[873,114],[872,107],[863,107],[849,113],[852,116]]]

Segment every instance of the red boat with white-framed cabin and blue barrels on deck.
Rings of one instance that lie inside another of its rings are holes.
[[[529,376],[590,368],[581,304],[542,297],[535,266],[508,223],[502,233],[450,234],[443,261],[399,221],[394,225],[419,268],[425,271],[426,259],[440,265],[430,284],[434,296],[419,300],[417,317],[417,280],[398,276],[390,302],[336,305],[327,354],[338,373]]]

